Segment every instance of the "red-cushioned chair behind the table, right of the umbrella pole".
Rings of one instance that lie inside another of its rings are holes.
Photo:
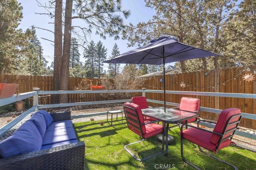
[[[198,98],[188,98],[188,97],[182,97],[180,100],[180,106],[179,107],[173,107],[174,109],[180,109],[180,110],[186,110],[186,111],[193,111],[197,112],[199,111],[200,107],[200,99]],[[197,117],[188,119],[187,123],[195,122],[197,120]],[[182,124],[186,123],[186,121],[180,122]],[[178,123],[177,125],[173,125],[172,127],[179,126],[180,124]]]

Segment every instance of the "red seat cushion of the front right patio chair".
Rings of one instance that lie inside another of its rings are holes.
[[[217,144],[211,142],[212,133],[207,131],[202,131],[196,128],[189,128],[182,131],[182,135],[184,139],[195,143],[205,149],[211,150],[213,152],[216,151]],[[227,139],[226,141],[220,143],[218,150],[228,147],[231,144],[231,141]]]

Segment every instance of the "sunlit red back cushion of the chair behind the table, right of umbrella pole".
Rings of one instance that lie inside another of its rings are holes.
[[[196,111],[199,107],[200,100],[197,98],[182,97],[180,100],[180,110]]]

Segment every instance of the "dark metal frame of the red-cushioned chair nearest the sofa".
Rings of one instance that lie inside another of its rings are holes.
[[[125,114],[124,117],[126,118],[126,122],[127,122],[128,127],[129,127],[129,125],[130,125],[130,126],[133,127],[134,129],[137,129],[138,131],[140,131],[140,137],[142,137],[142,140],[136,141],[136,142],[133,142],[133,143],[129,143],[129,144],[127,144],[127,145],[124,145],[124,149],[125,149],[134,159],[136,159],[136,160],[138,160],[138,161],[148,160],[148,159],[150,159],[150,158],[152,158],[152,157],[154,157],[154,156],[157,156],[157,155],[159,155],[159,154],[162,154],[162,153],[164,152],[164,135],[162,135],[162,136],[163,136],[163,139],[162,139],[162,149],[161,149],[159,152],[157,152],[157,153],[155,153],[155,154],[152,154],[152,155],[150,155],[150,156],[148,156],[148,157],[146,157],[146,158],[142,158],[142,159],[138,158],[136,155],[134,155],[134,154],[127,148],[127,146],[129,146],[129,145],[133,145],[133,144],[135,144],[135,143],[142,142],[142,141],[144,141],[144,140],[146,139],[146,138],[144,138],[143,135],[142,135],[142,130],[141,130],[141,126],[142,126],[142,125],[146,125],[146,124],[150,124],[150,123],[157,123],[157,122],[159,122],[159,121],[156,120],[156,121],[150,121],[150,122],[146,122],[146,123],[139,123],[139,128],[138,128],[138,127],[136,127],[136,126],[134,126],[134,125],[132,125],[131,123],[128,122],[128,120],[129,120],[129,121],[132,121],[132,122],[134,122],[134,123],[138,123],[138,122],[139,122],[138,112],[136,111],[136,109],[134,109],[134,108],[132,108],[132,107],[124,106],[124,108],[125,108],[125,107],[127,107],[127,108],[132,109],[132,110],[135,111],[137,121],[135,121],[134,119],[131,119],[130,117],[127,117],[127,114],[128,114],[128,115],[130,114],[130,115],[133,115],[133,116],[134,116],[134,114],[132,114],[132,113],[126,111],[125,109],[124,109],[124,114]],[[162,133],[164,133],[164,129],[163,129]]]

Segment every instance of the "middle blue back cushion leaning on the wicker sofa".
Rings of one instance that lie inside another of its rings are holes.
[[[45,123],[44,116],[40,113],[33,113],[31,115],[31,118],[28,119],[27,121],[32,121],[36,125],[36,128],[38,129],[40,135],[43,138],[44,133],[46,131],[46,123]]]

